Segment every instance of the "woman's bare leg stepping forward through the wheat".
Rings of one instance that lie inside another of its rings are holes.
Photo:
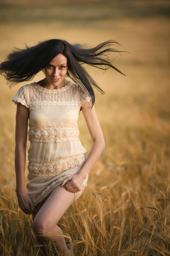
[[[55,241],[55,245],[63,256],[70,256],[71,251],[66,247],[62,230],[57,226],[57,222],[70,207],[74,200],[74,193],[66,191],[64,187],[57,186],[51,195],[36,207],[33,213],[33,229],[40,243],[46,243],[50,239]]]

